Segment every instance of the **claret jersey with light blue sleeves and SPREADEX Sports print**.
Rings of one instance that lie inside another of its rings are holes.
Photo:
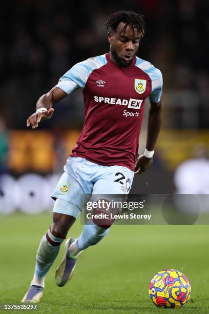
[[[74,65],[56,86],[67,94],[83,89],[85,121],[72,155],[133,170],[144,101],[161,98],[160,70],[139,57],[120,67],[107,53]]]

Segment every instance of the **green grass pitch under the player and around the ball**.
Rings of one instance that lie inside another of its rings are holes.
[[[33,276],[40,238],[51,214],[15,213],[0,217],[0,303],[20,303]],[[77,237],[79,220],[69,234]],[[190,280],[192,300],[184,313],[209,313],[209,226],[113,226],[106,239],[80,254],[66,287],[55,285],[54,273],[63,247],[50,270],[44,296],[35,313],[155,313],[148,286],[164,268],[182,271]],[[17,312],[17,311],[9,311]]]

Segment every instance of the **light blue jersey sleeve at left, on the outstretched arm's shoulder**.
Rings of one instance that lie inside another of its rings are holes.
[[[78,88],[85,88],[89,75],[94,69],[98,69],[107,63],[105,55],[89,58],[75,64],[68,72],[60,77],[57,87],[67,94]]]

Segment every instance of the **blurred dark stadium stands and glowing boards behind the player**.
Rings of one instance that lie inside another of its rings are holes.
[[[131,192],[209,194],[208,8],[207,0],[3,2],[0,212],[52,209],[50,193],[82,128],[82,91],[55,105],[52,119],[38,129],[27,129],[27,118],[39,96],[75,63],[109,51],[103,24],[122,9],[144,14],[146,31],[137,55],[159,68],[164,82],[164,122],[154,164],[134,179]],[[146,111],[141,152],[147,116]]]

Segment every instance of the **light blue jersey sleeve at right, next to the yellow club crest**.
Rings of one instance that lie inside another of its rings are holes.
[[[157,104],[162,95],[162,73],[159,69],[154,69],[152,73],[152,91],[149,96],[150,102]]]

